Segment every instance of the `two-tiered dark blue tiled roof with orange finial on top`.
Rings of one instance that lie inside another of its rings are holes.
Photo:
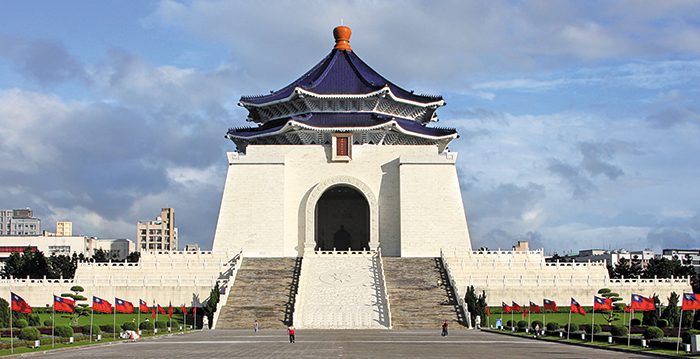
[[[333,30],[336,45],[321,62],[284,88],[243,96],[248,121],[226,137],[245,151],[249,144],[326,144],[332,132],[353,132],[353,144],[436,144],[440,152],[457,138],[451,128],[431,128],[441,96],[414,94],[396,86],[350,48],[350,28]]]

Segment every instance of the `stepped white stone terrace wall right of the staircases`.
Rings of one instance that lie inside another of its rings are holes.
[[[665,300],[671,292],[692,291],[688,278],[610,280],[605,262],[545,263],[542,251],[445,253],[461,293],[473,285],[489,305],[542,305],[543,299],[568,306],[571,298],[592,306],[599,289],[609,288],[629,303],[632,294]]]

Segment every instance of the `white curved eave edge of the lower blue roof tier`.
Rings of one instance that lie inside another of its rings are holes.
[[[431,135],[426,135],[423,133],[419,132],[413,132],[413,131],[408,131],[401,127],[401,125],[396,121],[396,120],[390,120],[375,126],[367,126],[367,127],[317,127],[317,126],[309,126],[308,124],[290,120],[287,123],[284,124],[284,126],[280,127],[279,129],[275,131],[270,131],[270,132],[265,132],[261,133],[258,135],[246,135],[246,136],[238,136],[235,133],[227,133],[226,138],[233,140],[235,139],[241,139],[241,140],[246,140],[246,139],[255,139],[255,138],[262,138],[262,137],[268,137],[268,136],[275,136],[275,135],[280,135],[287,133],[289,131],[294,131],[294,130],[306,130],[306,131],[317,131],[317,132],[369,132],[369,131],[388,131],[388,130],[396,130],[397,132],[404,134],[404,135],[410,135],[410,136],[415,136],[418,138],[423,138],[427,140],[432,140],[432,141],[447,141],[450,142],[458,137],[457,132],[445,135],[445,136],[431,136]]]

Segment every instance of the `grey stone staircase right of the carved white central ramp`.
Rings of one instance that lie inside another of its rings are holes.
[[[450,328],[464,327],[464,315],[440,258],[382,259],[394,329],[439,330],[445,320]]]

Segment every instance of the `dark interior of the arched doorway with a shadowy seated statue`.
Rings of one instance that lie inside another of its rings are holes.
[[[316,204],[316,249],[369,249],[369,204],[352,187],[329,188]]]

